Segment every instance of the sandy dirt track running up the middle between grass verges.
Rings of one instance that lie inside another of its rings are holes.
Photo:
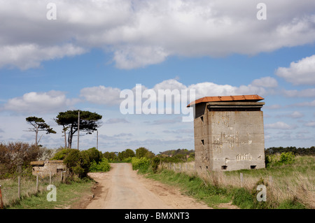
[[[107,173],[90,173],[99,185],[87,209],[209,208],[183,196],[176,187],[137,175],[131,164],[111,165]]]

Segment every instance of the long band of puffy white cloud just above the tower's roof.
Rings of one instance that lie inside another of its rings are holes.
[[[265,86],[265,87],[263,87]],[[273,87],[276,86],[276,80],[274,78],[261,78],[255,80],[250,85],[241,85],[239,87],[232,85],[218,85],[214,82],[200,82],[193,85],[184,85],[176,79],[163,80],[162,82],[154,85],[151,89],[148,87],[141,85],[141,94],[142,101],[156,103],[157,101],[163,101],[165,99],[159,98],[160,94],[165,93],[166,90],[169,90],[169,94],[172,94],[174,98],[179,96],[179,103],[183,103],[181,101],[181,94],[186,94],[187,99],[193,99],[190,96],[190,90],[195,91],[195,99],[200,99],[204,96],[225,96],[225,95],[237,95],[237,94],[259,94],[260,96],[266,96],[268,94],[272,94]],[[140,87],[140,86],[139,86]],[[268,89],[268,90],[267,90]],[[133,87],[130,89],[134,100],[136,99],[137,87]],[[140,90],[140,88],[139,88]],[[148,91],[146,91],[148,90]],[[187,92],[182,92],[182,90],[187,90]],[[105,86],[97,86],[97,87],[85,87],[80,90],[80,96],[90,103],[104,104],[104,105],[118,105],[126,98],[120,98],[120,92],[122,89],[113,88],[113,87],[105,87]],[[144,93],[148,94],[144,96]],[[154,94],[152,96],[151,94]],[[132,96],[132,95],[130,95]],[[129,97],[129,95],[128,95]],[[175,102],[173,100],[173,102]],[[187,101],[187,104],[191,101]]]

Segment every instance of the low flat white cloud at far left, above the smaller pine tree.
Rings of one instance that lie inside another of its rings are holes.
[[[65,109],[76,102],[76,99],[66,99],[64,92],[29,92],[23,96],[8,99],[3,109],[18,113],[50,113]]]

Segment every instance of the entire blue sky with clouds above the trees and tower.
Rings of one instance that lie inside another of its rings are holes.
[[[56,20],[48,20],[48,3]],[[314,145],[315,3],[264,1],[2,1],[0,141],[34,142],[25,117],[81,109],[103,115],[99,149],[194,149],[182,115],[123,115],[119,94],[195,89],[197,98],[265,98],[265,147]],[[284,7],[286,6],[286,7]],[[73,139],[73,145],[76,140]],[[82,149],[96,134],[82,136]]]

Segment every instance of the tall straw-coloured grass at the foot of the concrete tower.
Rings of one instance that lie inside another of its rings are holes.
[[[182,168],[179,168],[178,164],[163,165],[163,168],[169,167],[175,172],[198,175],[207,185],[230,190],[242,188],[237,192],[243,193],[241,196],[252,197],[252,208],[315,208],[315,157],[297,156],[292,164],[276,164],[269,168],[240,171],[196,172],[192,171],[192,168],[185,168],[185,164],[182,164]],[[240,173],[243,173],[243,182],[240,180]],[[255,189],[258,183],[267,187],[267,202],[262,207],[261,203],[255,203]],[[249,206],[243,208],[246,207]]]

